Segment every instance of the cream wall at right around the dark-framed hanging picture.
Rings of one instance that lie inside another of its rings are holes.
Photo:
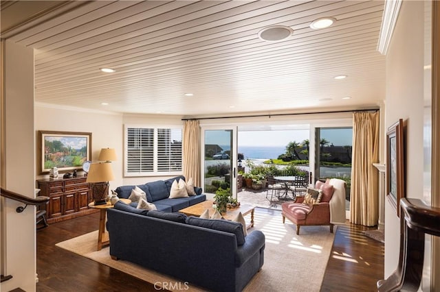
[[[406,197],[418,199],[423,199],[423,19],[423,1],[402,3],[386,55],[384,125],[404,119]],[[399,230],[395,210],[386,202],[385,278],[399,262]]]

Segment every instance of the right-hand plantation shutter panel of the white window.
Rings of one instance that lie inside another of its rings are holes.
[[[180,171],[181,129],[157,129],[157,171]]]

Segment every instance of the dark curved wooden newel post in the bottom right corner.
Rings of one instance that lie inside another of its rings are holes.
[[[425,234],[440,236],[440,208],[420,199],[400,199],[399,264],[386,280],[377,281],[377,290],[417,291],[421,283]]]

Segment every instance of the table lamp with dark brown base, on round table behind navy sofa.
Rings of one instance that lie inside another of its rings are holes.
[[[87,182],[91,184],[91,194],[95,205],[107,204],[106,199],[109,195],[109,181],[114,180],[115,176],[111,170],[109,162],[92,163],[87,175]]]

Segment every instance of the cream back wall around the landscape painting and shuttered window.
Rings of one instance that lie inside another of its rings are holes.
[[[97,103],[97,107],[100,104]],[[48,104],[36,104],[35,135],[39,130],[65,132],[91,132],[92,161],[97,161],[101,148],[114,148],[118,160],[112,162],[115,180],[110,189],[128,184],[145,184],[165,177],[124,178],[124,124],[137,125],[183,125],[181,117],[151,114],[116,114],[102,110],[90,111],[82,108],[57,107]],[[37,158],[38,159],[38,158]],[[38,161],[36,165],[38,166]],[[37,170],[38,171],[38,167]],[[83,172],[78,172],[83,175]],[[48,178],[39,175],[36,179]]]

